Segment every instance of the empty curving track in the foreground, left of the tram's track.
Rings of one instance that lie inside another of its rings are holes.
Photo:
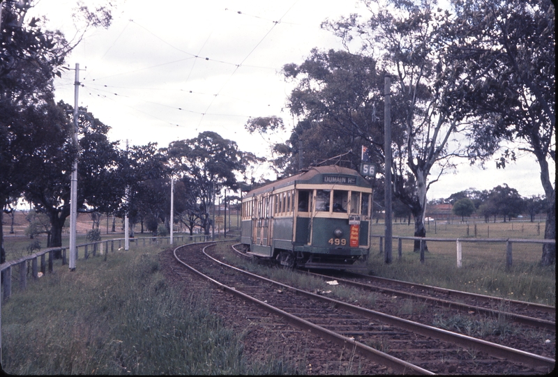
[[[225,265],[197,246],[177,248],[185,268],[298,328],[386,365],[394,373],[548,373],[555,360],[302,291]],[[511,361],[513,360],[513,362]]]

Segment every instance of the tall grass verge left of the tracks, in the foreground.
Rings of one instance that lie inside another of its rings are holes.
[[[248,365],[241,338],[199,293],[167,286],[153,247],[55,268],[2,307],[8,374],[281,374]]]

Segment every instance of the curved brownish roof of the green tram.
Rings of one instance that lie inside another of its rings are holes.
[[[347,167],[338,167],[337,165],[328,165],[323,167],[310,167],[308,170],[300,171],[294,176],[289,176],[287,178],[282,178],[275,180],[271,183],[267,183],[262,187],[257,187],[254,190],[250,190],[246,197],[252,197],[254,195],[262,194],[262,192],[268,192],[270,190],[276,190],[281,187],[287,187],[295,183],[308,183],[308,184],[323,184],[327,183],[323,181],[322,176],[332,176],[332,177],[350,177],[356,178],[355,183],[345,183],[346,185],[353,185],[357,187],[370,187],[370,183],[359,174],[358,171],[354,169],[349,169]],[[331,182],[334,184],[342,185],[341,182]]]

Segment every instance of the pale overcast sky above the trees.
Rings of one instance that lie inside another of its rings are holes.
[[[107,0],[85,1],[89,8]],[[285,109],[294,83],[280,71],[302,63],[312,48],[342,49],[340,40],[320,28],[326,20],[365,14],[355,0],[114,0],[109,29],[92,29],[68,56],[70,70],[56,79],[56,99],[74,105],[75,64],[80,64],[78,103],[112,129],[121,146],[197,137],[211,130],[236,141],[241,151],[270,157],[270,146],[288,139],[296,124]],[[39,0],[34,12],[49,29],[75,35],[75,0]],[[249,134],[250,117],[279,116],[285,132]],[[469,167],[444,174],[428,199],[504,183],[528,197],[543,194],[538,164],[525,154],[506,169]],[[552,167],[552,171],[554,171]],[[432,171],[437,174],[437,171]],[[265,167],[256,178],[270,175]]]

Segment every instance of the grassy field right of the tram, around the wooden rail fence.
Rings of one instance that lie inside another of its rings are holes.
[[[478,223],[477,238],[543,239],[544,223],[530,222]],[[384,224],[376,224],[374,235],[382,236]],[[411,224],[394,224],[394,236],[413,236]],[[430,224],[427,237],[474,239],[474,224]],[[462,243],[462,267],[457,267],[455,241],[428,241],[425,263],[413,252],[413,241],[402,240],[402,257],[398,257],[398,242],[392,243],[392,261],[386,265],[379,253],[379,238],[372,238],[368,266],[373,275],[402,279],[409,282],[442,286],[460,291],[497,295],[513,300],[556,305],[556,265],[540,266],[542,245],[513,243],[513,263],[506,266],[506,243]]]

